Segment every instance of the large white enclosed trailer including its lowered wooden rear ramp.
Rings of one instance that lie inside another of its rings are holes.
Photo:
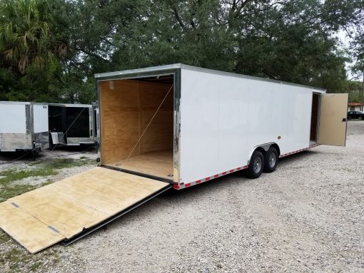
[[[0,227],[30,252],[74,242],[171,187],[243,169],[259,177],[283,156],[345,145],[347,94],[183,64],[96,80],[100,167],[0,204]]]

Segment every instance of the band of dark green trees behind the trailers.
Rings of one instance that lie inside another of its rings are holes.
[[[93,73],[168,63],[345,92],[348,57],[357,71],[364,63],[363,7],[363,0],[3,0],[0,97],[89,103]],[[350,52],[340,48],[339,30],[355,36]]]

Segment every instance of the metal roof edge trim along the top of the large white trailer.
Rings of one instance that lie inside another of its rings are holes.
[[[147,67],[147,68],[129,69],[129,70],[125,70],[125,71],[97,73],[97,74],[95,74],[95,78],[100,79],[100,80],[101,79],[106,80],[107,78],[115,79],[117,76],[135,75],[138,73],[145,74],[145,73],[149,73],[149,72],[155,73],[157,71],[170,71],[170,70],[178,69],[178,68],[187,69],[187,70],[191,70],[191,71],[212,73],[212,74],[223,75],[223,76],[231,76],[231,77],[236,77],[236,78],[247,78],[247,79],[254,80],[254,81],[267,81],[270,83],[280,83],[280,84],[284,84],[284,85],[288,85],[288,86],[298,86],[298,87],[310,88],[310,89],[326,92],[326,89],[313,87],[313,86],[305,86],[305,85],[299,84],[299,83],[288,83],[285,81],[272,80],[270,78],[260,78],[260,77],[256,77],[256,76],[247,76],[247,75],[243,75],[243,74],[218,71],[218,70],[213,70],[213,69],[208,69],[208,68],[201,68],[201,67],[197,67],[197,66],[188,66],[183,63],[173,63],[173,64],[169,64],[169,65],[164,65],[164,66],[152,66],[152,67]]]

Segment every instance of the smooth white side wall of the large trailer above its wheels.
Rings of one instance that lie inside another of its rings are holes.
[[[181,69],[180,182],[248,164],[254,147],[308,148],[313,89]],[[280,136],[280,140],[278,140]]]

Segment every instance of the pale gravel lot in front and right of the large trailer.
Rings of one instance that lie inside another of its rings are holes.
[[[40,257],[39,272],[364,272],[364,122],[348,123],[346,148],[166,192]]]

